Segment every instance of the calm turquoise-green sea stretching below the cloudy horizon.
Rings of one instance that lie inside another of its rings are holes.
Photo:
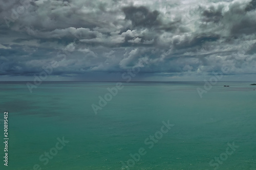
[[[32,93],[26,83],[0,83],[1,169],[256,169],[254,82],[218,82],[202,98],[204,82],[123,83],[97,114],[116,83],[42,82]]]

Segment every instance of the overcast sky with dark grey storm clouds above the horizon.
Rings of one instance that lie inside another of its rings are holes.
[[[256,80],[256,0],[0,0],[0,81]]]

